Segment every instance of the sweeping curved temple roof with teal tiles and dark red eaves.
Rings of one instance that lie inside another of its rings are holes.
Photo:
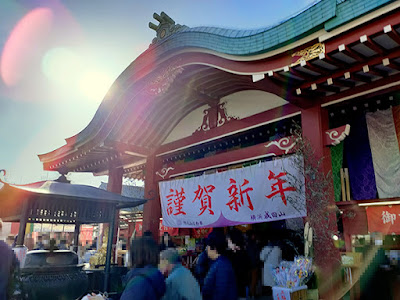
[[[324,55],[325,60],[320,58],[318,63],[294,66],[296,59],[292,54],[318,43],[318,36],[313,33],[327,33],[391,2],[394,1],[321,0],[276,26],[244,31],[188,28],[175,24],[165,13],[154,14],[159,25],[149,26],[156,30],[157,37],[118,77],[93,120],[79,134],[67,139],[65,146],[39,158],[46,170],[104,174],[111,163],[126,168],[143,164],[188,113],[205,104],[216,105],[229,94],[262,90],[305,107],[312,97],[341,92],[343,86],[351,87],[353,82],[339,80],[336,83],[340,86],[322,85],[326,76],[336,76],[350,66],[355,68],[357,59],[366,61],[373,54],[362,47],[361,52],[346,48],[338,53],[336,42],[326,50],[330,57]],[[396,30],[391,33],[396,38]],[[354,42],[360,43],[360,33],[357,34]],[[382,53],[397,49],[398,43],[392,40],[391,45],[387,39],[380,39],[382,44],[378,47],[372,45],[372,53],[376,49],[380,53],[382,47]],[[300,44],[292,46],[300,40]],[[288,51],[281,50],[285,45],[289,45]],[[382,58],[378,60],[382,62]],[[262,82],[253,82],[251,75],[267,73]],[[365,76],[358,78],[368,82]],[[324,80],[319,83],[323,92],[315,90],[316,85],[310,87],[311,80]],[[311,92],[311,98],[307,97]]]

